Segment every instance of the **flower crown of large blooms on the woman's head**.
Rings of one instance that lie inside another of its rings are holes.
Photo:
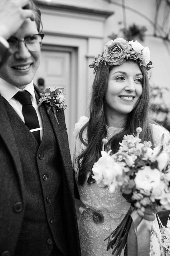
[[[128,59],[135,60],[139,66],[144,66],[146,70],[152,69],[152,61],[150,60],[149,47],[142,46],[137,40],[135,42],[126,41],[123,38],[116,38],[106,43],[103,53],[94,57],[94,61],[89,65],[96,72],[99,63],[105,62],[109,66],[121,65]]]

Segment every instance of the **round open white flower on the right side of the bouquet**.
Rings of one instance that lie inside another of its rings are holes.
[[[145,166],[144,169],[137,172],[134,181],[137,189],[152,191],[152,188],[160,186],[160,171]]]

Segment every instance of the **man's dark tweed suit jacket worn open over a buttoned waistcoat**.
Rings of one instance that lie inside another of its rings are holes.
[[[36,93],[42,93],[34,86]],[[37,101],[39,99],[37,98]],[[41,106],[40,106],[41,112]],[[72,164],[68,145],[67,129],[63,111],[57,112],[56,122],[53,112],[49,111],[51,125],[55,132],[62,161],[63,202],[65,233],[69,243],[69,255],[81,255],[78,236],[78,225],[74,205],[74,186]],[[22,134],[21,134],[22,136]],[[31,150],[31,149],[30,149]],[[25,211],[25,192],[22,166],[10,120],[0,95],[0,255],[6,250],[14,252],[22,226]],[[23,205],[22,211],[14,211],[18,202]]]

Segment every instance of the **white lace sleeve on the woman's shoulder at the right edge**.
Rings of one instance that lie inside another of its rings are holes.
[[[162,135],[164,134],[163,145],[168,145],[170,142],[170,133],[164,127],[160,125],[153,124],[152,125],[152,132],[153,132],[153,142],[154,146],[159,145],[161,142]]]

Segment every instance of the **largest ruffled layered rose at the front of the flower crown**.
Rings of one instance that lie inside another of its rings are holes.
[[[128,51],[131,46],[123,38],[116,38],[114,41],[110,40],[104,47],[103,57],[108,65],[121,65],[126,61]]]

